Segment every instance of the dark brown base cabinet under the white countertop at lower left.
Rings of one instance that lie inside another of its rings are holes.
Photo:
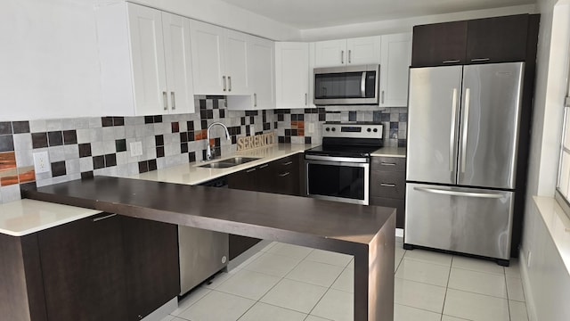
[[[0,235],[6,320],[139,320],[179,292],[176,226],[102,213]]]

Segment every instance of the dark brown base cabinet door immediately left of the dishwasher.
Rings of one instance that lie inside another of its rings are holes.
[[[139,320],[180,293],[178,228],[121,217],[125,243],[128,320]]]

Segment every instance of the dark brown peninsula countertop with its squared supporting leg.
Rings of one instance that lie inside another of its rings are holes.
[[[40,201],[354,255],[354,320],[393,319],[394,209],[118,177],[24,193]]]

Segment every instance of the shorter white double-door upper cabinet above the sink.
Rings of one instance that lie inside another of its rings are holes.
[[[248,94],[248,35],[191,21],[191,48],[197,95]]]

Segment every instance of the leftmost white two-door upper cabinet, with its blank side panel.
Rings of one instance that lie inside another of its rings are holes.
[[[194,111],[190,21],[137,4],[97,11],[106,115]]]

